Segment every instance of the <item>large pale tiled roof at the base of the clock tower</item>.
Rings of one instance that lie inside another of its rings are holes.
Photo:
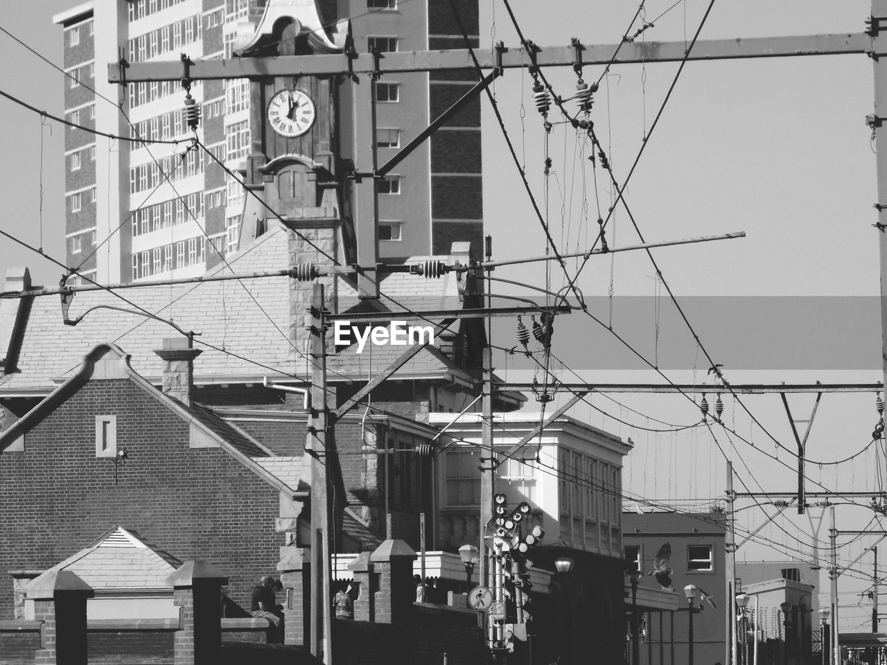
[[[410,262],[420,262],[422,258],[415,257]],[[289,261],[287,231],[282,227],[271,229],[228,259],[230,270],[239,274],[283,270]],[[208,275],[228,271],[223,264]],[[75,372],[82,357],[101,341],[125,348],[132,355],[133,369],[142,376],[159,377],[161,361],[153,348],[160,346],[162,338],[178,333],[168,324],[138,313],[137,308],[168,318],[186,332],[200,333],[194,337],[195,348],[202,350],[194,362],[197,383],[224,383],[226,377],[235,382],[236,378],[289,374],[294,368],[307,378],[308,361],[297,356],[288,339],[289,282],[287,277],[274,277],[144,286],[117,292],[134,306],[106,291],[76,293],[68,315],[83,319],[74,326],[63,324],[58,298],[35,298],[21,340],[18,371],[0,377],[0,393],[50,390],[58,379]],[[357,293],[344,279],[338,280],[337,288],[340,311],[357,305]],[[397,273],[384,279],[382,290],[411,309],[460,307],[456,273],[440,279]],[[380,304],[398,309],[385,297],[376,307]],[[366,351],[358,355],[356,349],[346,349],[330,358],[330,380],[336,380],[337,372],[349,378],[380,372],[403,349],[376,348],[372,358]],[[454,365],[447,357],[423,350],[398,373],[409,378],[410,374],[427,376],[448,368]]]

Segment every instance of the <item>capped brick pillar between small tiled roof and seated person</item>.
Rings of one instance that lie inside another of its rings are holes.
[[[174,665],[216,665],[222,660],[222,586],[228,578],[197,559],[169,574],[166,583],[173,587],[173,604],[180,607]]]

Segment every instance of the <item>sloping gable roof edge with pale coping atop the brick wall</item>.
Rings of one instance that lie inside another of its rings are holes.
[[[111,343],[99,344],[93,348],[83,358],[78,372],[53,390],[31,411],[12,423],[8,429],[0,432],[0,450],[4,450],[20,436],[39,425],[90,379],[130,379],[147,395],[152,396],[187,422],[191,426],[192,439],[198,438],[201,445],[221,448],[272,487],[286,492],[290,497],[308,497],[306,489],[299,488],[298,484],[290,485],[255,462],[255,457],[270,456],[271,450],[255,441],[246,432],[220,418],[214,411],[196,403],[192,403],[191,406],[185,405],[153,387],[132,369],[130,356]]]

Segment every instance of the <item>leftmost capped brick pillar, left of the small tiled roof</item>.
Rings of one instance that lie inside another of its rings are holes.
[[[92,587],[69,570],[50,570],[27,586],[34,618],[43,622],[36,665],[86,665],[86,599]]]

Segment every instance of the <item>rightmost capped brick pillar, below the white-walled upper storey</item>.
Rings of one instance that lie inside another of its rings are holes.
[[[379,574],[376,623],[403,624],[412,618],[412,603],[416,599],[412,562],[416,558],[416,552],[402,540],[386,540],[370,555],[373,570]]]

